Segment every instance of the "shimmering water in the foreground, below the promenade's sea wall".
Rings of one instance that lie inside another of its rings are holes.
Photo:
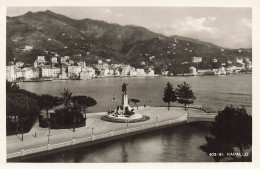
[[[90,147],[30,159],[31,162],[210,162],[198,147],[209,123],[190,123]]]

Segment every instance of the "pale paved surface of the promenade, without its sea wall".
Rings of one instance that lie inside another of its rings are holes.
[[[201,110],[189,109],[189,112],[202,112]],[[172,119],[178,119],[187,114],[184,108],[171,107],[170,111],[167,107],[140,107],[139,110],[135,109],[136,113],[149,116],[150,119],[144,122],[129,123],[128,128],[142,126],[143,124],[154,124],[156,122],[162,122]],[[49,138],[50,144],[57,144],[61,142],[71,141],[73,138],[80,139],[89,137],[92,135],[92,127],[94,135],[108,133],[111,130],[117,131],[127,128],[126,123],[113,123],[101,120],[101,117],[106,115],[106,112],[90,113],[87,114],[86,126],[76,128],[73,132],[72,129],[53,129],[51,130],[51,136]],[[158,118],[156,118],[158,117]],[[38,123],[32,128],[29,133],[24,134],[24,141],[21,141],[21,134],[18,136],[7,136],[7,154],[21,151],[21,149],[28,150],[38,147],[47,146],[48,144],[48,128],[38,127]],[[35,132],[37,137],[35,137]]]

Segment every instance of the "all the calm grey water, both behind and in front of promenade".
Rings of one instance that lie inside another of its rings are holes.
[[[176,87],[182,82],[191,84],[197,97],[194,105],[202,105],[211,112],[222,110],[226,105],[243,105],[252,111],[252,75],[194,76],[194,77],[140,77],[103,78],[81,81],[51,81],[40,83],[20,83],[20,87],[38,94],[60,96],[63,88],[69,88],[74,95],[95,98],[98,104],[89,112],[112,109],[120,104],[121,85],[129,83],[129,98],[140,99],[139,105],[165,105],[162,101],[167,82]],[[112,102],[115,97],[116,101]],[[177,105],[177,103],[174,103]],[[118,141],[75,149],[34,162],[195,162],[213,161],[198,147],[205,143],[209,135],[208,124],[192,123],[133,136]]]

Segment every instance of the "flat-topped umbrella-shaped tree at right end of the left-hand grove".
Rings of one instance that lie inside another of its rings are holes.
[[[93,99],[92,97],[87,96],[74,96],[72,100],[77,101],[77,103],[81,106],[85,118],[86,118],[86,111],[88,107],[95,106],[97,104],[97,101]]]

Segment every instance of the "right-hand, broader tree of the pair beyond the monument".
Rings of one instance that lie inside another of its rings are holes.
[[[191,90],[191,86],[186,82],[183,82],[182,84],[178,85],[175,91],[176,91],[178,103],[184,104],[185,110],[186,110],[186,105],[192,104],[196,99],[193,91]]]

